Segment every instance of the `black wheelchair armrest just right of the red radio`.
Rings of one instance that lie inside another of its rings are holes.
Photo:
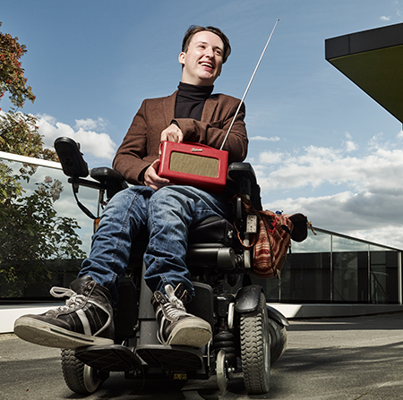
[[[249,197],[255,209],[262,209],[261,187],[257,183],[253,166],[249,163],[232,163],[228,167],[228,176],[238,185],[238,192]]]

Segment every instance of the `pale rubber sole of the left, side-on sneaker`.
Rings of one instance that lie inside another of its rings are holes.
[[[30,317],[21,317],[14,323],[14,333],[21,339],[60,349],[74,350],[88,345],[113,345],[112,339],[83,335]]]

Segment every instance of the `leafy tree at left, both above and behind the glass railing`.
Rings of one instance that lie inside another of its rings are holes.
[[[26,52],[18,38],[0,32],[0,100],[9,92],[14,106],[0,115],[0,151],[57,161],[56,152],[44,148],[35,115],[17,111],[26,99],[35,100],[21,68]],[[7,287],[0,296],[7,297],[20,296],[33,283],[43,286],[60,260],[85,257],[75,232],[80,226],[74,218],[57,216],[54,207],[63,191],[60,181],[47,177],[27,196],[22,183],[30,182],[37,166],[23,164],[18,171],[13,166],[0,161],[0,286]]]

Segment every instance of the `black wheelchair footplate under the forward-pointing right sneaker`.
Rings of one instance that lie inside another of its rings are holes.
[[[201,370],[203,365],[201,351],[192,347],[139,345],[136,353],[147,365],[161,370]]]

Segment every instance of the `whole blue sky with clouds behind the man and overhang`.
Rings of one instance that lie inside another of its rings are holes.
[[[110,166],[142,99],[176,89],[190,25],[226,32],[232,54],[215,91],[241,98],[279,18],[245,99],[247,160],[265,208],[403,247],[401,123],[324,56],[326,38],[402,22],[403,0],[2,0],[0,9],[1,30],[28,47],[22,65],[37,100],[24,111],[39,117],[47,145],[80,141],[90,167]]]

